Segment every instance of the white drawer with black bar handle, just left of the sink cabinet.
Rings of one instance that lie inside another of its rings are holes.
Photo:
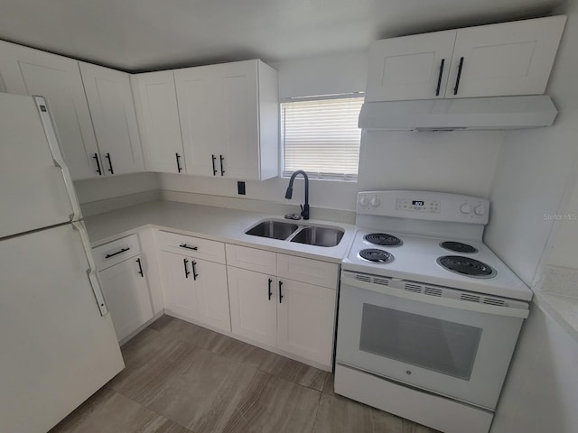
[[[163,251],[225,264],[225,244],[222,242],[162,230],[158,232],[157,240],[159,248]]]

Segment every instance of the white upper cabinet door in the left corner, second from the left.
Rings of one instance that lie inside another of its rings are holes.
[[[144,170],[130,78],[125,72],[79,62],[97,134],[103,172]]]

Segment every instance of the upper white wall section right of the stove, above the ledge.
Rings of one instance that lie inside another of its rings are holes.
[[[578,11],[567,2],[562,44],[546,94],[559,114],[549,128],[505,135],[490,191],[491,215],[485,241],[531,285],[564,192],[573,185],[578,160]],[[546,217],[545,217],[546,216]]]

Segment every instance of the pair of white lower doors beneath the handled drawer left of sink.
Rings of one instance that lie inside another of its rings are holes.
[[[224,264],[161,252],[164,308],[181,318],[230,331],[227,269]]]

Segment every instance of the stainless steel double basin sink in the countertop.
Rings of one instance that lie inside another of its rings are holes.
[[[337,227],[302,226],[275,219],[262,221],[245,232],[246,235],[315,246],[336,246],[341,242],[343,233]]]

